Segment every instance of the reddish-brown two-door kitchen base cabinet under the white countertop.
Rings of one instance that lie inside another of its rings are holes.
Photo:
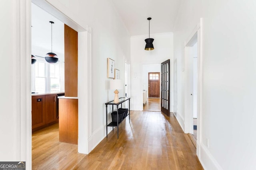
[[[56,94],[32,96],[32,131],[56,122]]]

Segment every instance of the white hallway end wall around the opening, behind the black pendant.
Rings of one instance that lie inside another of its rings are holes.
[[[131,37],[131,82],[132,82],[132,100],[133,110],[143,110],[143,84],[142,84],[142,65],[143,64],[160,64],[170,59],[170,77],[172,77],[173,68],[173,34],[162,33],[152,34],[150,38],[154,38],[154,50],[146,51],[144,39],[148,35],[139,35]],[[171,89],[171,111],[173,106],[173,83],[170,84]]]

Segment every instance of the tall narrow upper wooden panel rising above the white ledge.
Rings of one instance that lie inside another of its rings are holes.
[[[78,33],[64,25],[65,96],[77,97]]]

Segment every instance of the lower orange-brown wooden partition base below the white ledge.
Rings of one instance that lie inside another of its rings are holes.
[[[78,144],[78,99],[59,99],[60,142]]]

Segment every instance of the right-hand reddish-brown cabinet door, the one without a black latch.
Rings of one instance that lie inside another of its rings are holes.
[[[56,121],[56,94],[45,95],[45,123]]]

